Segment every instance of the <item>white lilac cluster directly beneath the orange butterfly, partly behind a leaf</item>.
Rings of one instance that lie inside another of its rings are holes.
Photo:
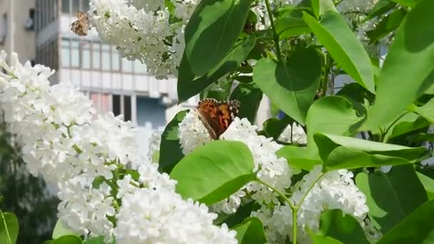
[[[184,154],[193,151],[194,148],[211,141],[208,131],[198,117],[198,111],[192,109],[179,123],[179,138]],[[220,136],[222,140],[241,141],[251,150],[255,168],[258,171],[258,179],[273,186],[280,191],[285,191],[291,186],[293,169],[288,166],[285,158],[278,158],[276,151],[281,145],[272,141],[271,138],[258,136],[256,126],[252,126],[247,118],[235,118],[231,126]],[[241,198],[246,193],[251,193],[251,198],[258,203],[277,203],[278,195],[265,185],[248,183],[244,188],[213,205],[213,210],[224,213],[235,213],[241,205]]]

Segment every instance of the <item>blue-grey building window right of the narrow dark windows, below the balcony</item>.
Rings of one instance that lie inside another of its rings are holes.
[[[159,103],[159,99],[137,96],[137,126],[151,123],[153,128],[166,125],[166,107]]]

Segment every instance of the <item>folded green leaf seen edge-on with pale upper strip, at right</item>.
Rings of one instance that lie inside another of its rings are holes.
[[[407,146],[378,143],[348,136],[336,136],[328,133],[316,133],[313,137],[318,146],[320,156],[324,161],[329,160],[330,154],[339,147],[348,148],[350,151],[364,151],[371,155],[376,154],[403,158],[408,161],[418,159],[426,151],[426,148],[423,147],[410,148]],[[340,151],[344,152],[345,150],[340,149]],[[348,153],[350,153],[350,151],[348,151]]]

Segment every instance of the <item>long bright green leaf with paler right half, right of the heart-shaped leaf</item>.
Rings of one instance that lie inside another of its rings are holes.
[[[336,63],[361,86],[375,93],[369,56],[342,16],[335,11],[326,11],[320,23],[309,14],[303,13],[303,20]]]

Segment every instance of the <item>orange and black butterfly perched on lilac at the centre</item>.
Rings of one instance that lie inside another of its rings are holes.
[[[240,106],[240,102],[236,100],[217,101],[205,98],[199,101],[196,110],[211,138],[216,140],[237,116]]]

